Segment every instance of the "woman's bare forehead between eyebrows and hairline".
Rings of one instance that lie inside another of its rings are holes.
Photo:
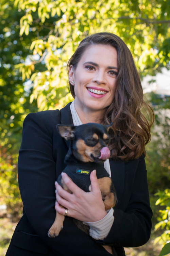
[[[117,67],[117,50],[110,45],[91,45],[83,53],[78,65],[82,65],[85,62]]]

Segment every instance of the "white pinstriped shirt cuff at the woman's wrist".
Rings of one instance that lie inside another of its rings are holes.
[[[90,236],[96,240],[103,240],[107,237],[114,222],[114,210],[111,208],[104,218],[95,222],[83,222],[90,227]]]

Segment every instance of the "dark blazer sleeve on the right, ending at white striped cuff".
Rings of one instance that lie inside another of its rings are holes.
[[[107,237],[100,241],[102,244],[137,247],[145,244],[150,238],[152,210],[149,202],[144,156],[141,156],[137,161],[138,166],[135,172],[130,200],[125,210],[114,209],[114,223]],[[125,191],[128,189],[126,186],[125,181]],[[125,196],[125,193],[123,195]]]

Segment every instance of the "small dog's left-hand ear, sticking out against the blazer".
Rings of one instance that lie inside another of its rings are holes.
[[[57,124],[57,126],[56,126],[57,131],[66,140],[74,139],[75,127],[76,126],[74,126],[74,125],[62,125],[62,124]]]

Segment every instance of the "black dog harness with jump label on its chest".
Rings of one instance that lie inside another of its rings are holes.
[[[64,173],[72,179],[72,181],[83,189],[85,192],[89,192],[90,182],[90,173],[96,170],[97,178],[109,177],[108,172],[104,168],[104,164],[98,164],[95,162],[92,163],[69,163],[66,168],[63,170]],[[62,186],[61,183],[62,176],[58,176],[57,182]]]

